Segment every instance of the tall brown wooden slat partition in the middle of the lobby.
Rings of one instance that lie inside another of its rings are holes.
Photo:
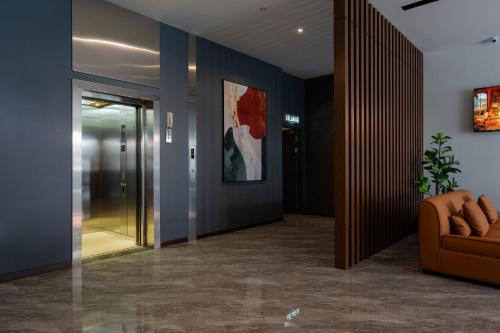
[[[423,56],[367,0],[335,1],[335,266],[414,233]]]

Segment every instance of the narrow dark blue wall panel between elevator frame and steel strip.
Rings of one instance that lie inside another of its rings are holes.
[[[161,25],[161,240],[187,237],[188,114],[187,33]],[[165,143],[167,112],[174,114],[173,142]]]

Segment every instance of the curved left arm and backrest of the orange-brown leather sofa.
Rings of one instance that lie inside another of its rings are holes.
[[[451,233],[450,216],[460,212],[468,200],[474,200],[472,194],[459,190],[430,197],[420,203],[419,243],[423,269],[439,270],[441,236]]]

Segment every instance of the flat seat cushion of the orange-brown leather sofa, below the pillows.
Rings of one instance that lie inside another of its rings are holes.
[[[460,235],[445,235],[441,239],[444,250],[462,252],[483,257],[500,258],[500,230],[493,230],[499,238],[464,237]]]

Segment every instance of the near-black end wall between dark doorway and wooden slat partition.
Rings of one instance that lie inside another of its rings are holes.
[[[306,81],[305,211],[334,215],[333,75]]]

